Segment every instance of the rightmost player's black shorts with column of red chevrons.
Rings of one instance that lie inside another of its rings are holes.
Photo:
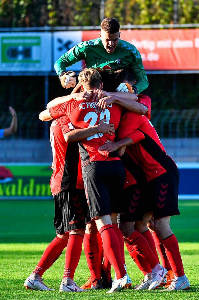
[[[174,168],[148,182],[145,211],[153,211],[154,218],[180,214],[178,209],[179,171]]]

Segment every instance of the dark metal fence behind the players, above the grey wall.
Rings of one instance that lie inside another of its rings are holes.
[[[51,122],[42,122],[39,112],[17,112],[19,139],[48,139]],[[11,118],[0,116],[0,128],[9,127]],[[152,110],[151,122],[160,138],[199,138],[199,110]]]

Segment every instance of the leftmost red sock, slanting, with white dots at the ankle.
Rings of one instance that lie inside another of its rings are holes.
[[[42,276],[44,272],[49,269],[52,264],[60,257],[63,249],[67,246],[67,242],[68,241],[56,236],[45,249],[41,259],[39,260],[39,263],[32,273],[37,273]]]

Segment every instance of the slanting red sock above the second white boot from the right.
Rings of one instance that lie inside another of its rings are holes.
[[[153,251],[149,247],[146,239],[135,230],[127,239],[129,243],[126,244],[127,250],[132,251],[134,248],[146,261],[150,264],[150,268],[153,269],[158,263],[157,258],[153,254]],[[126,241],[125,241],[126,243]]]

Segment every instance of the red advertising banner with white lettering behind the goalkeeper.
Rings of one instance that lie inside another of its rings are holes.
[[[82,41],[97,37],[82,32]],[[121,30],[120,38],[139,50],[146,70],[199,70],[199,29]]]

